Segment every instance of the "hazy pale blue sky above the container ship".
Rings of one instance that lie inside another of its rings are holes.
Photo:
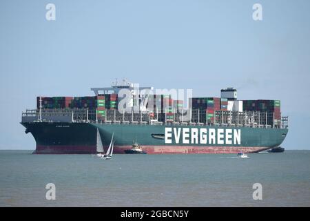
[[[45,19],[54,3],[56,21]],[[262,21],[252,19],[254,3]],[[0,1],[0,148],[34,149],[36,97],[92,95],[123,77],[239,99],[280,99],[285,148],[310,149],[310,1]]]

